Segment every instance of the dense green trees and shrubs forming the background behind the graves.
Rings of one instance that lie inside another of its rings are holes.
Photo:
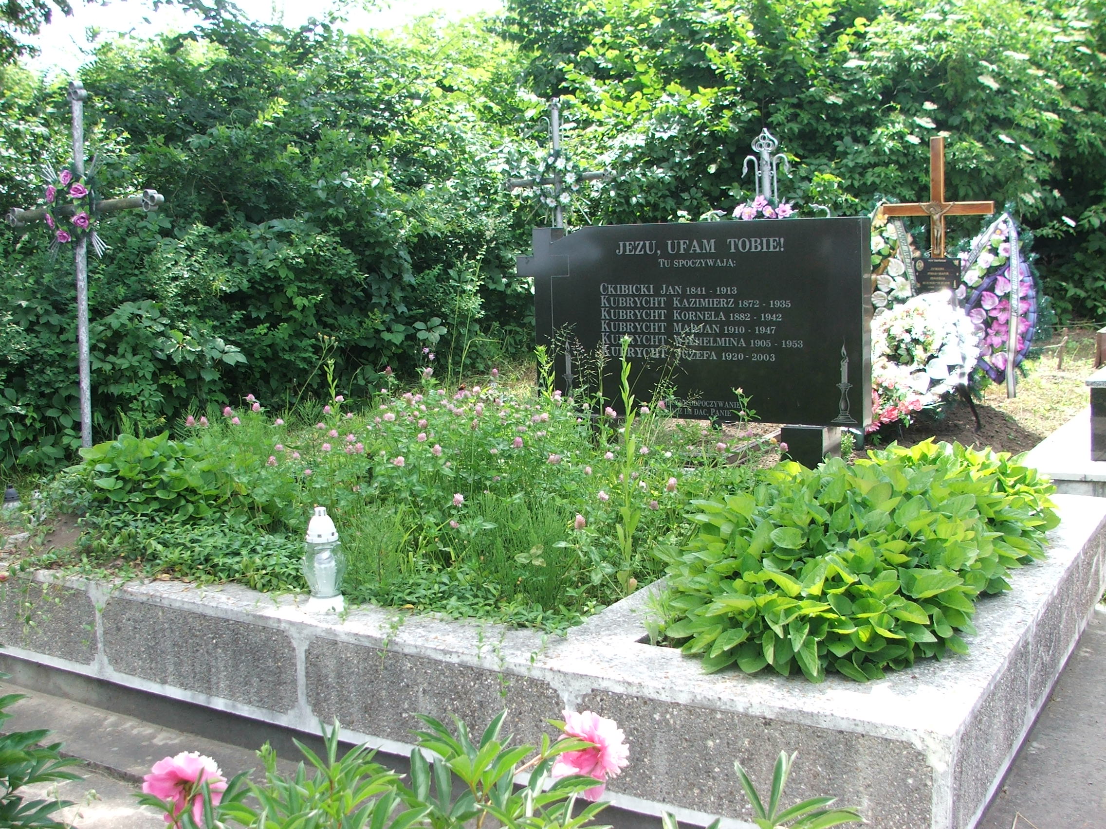
[[[500,19],[401,35],[226,12],[102,46],[81,70],[104,191],[159,213],[104,222],[92,265],[95,428],[171,420],[253,392],[294,401],[336,360],[343,391],[422,347],[453,372],[531,346],[513,256],[547,221],[502,185],[566,147],[614,178],[571,221],[730,209],[764,126],[793,160],[781,196],[839,213],[924,198],[931,135],[949,193],[1008,203],[1062,317],[1106,318],[1104,0],[509,0]],[[0,66],[0,207],[67,160],[64,82]],[[1074,227],[1073,227],[1074,225]],[[960,219],[953,237],[970,237]],[[0,233],[0,464],[75,441],[70,262]],[[325,337],[330,337],[326,339]]]

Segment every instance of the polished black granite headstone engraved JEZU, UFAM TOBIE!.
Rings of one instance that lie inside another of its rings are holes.
[[[635,395],[648,400],[675,361],[685,417],[731,418],[741,388],[764,421],[863,428],[868,238],[866,218],[535,229],[519,274],[534,279],[538,343],[561,388],[599,350],[613,378],[629,337]]]

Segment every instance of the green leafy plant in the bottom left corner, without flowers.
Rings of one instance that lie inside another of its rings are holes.
[[[7,674],[0,674],[7,679]],[[7,709],[25,694],[0,696],[0,723],[11,718]],[[65,769],[81,760],[61,756],[61,743],[42,745],[50,736],[45,730],[11,732],[0,736],[0,826],[12,829],[66,829],[69,823],[52,816],[72,806],[70,800],[24,800],[19,790],[24,786],[59,780],[80,780],[81,776]]]

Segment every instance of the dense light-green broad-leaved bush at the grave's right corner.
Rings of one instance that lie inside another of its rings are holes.
[[[751,492],[693,502],[698,532],[661,549],[661,630],[707,671],[813,682],[964,653],[975,599],[1043,555],[1053,491],[1006,454],[931,441],[781,463]]]

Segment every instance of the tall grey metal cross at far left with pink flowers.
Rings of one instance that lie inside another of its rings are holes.
[[[74,81],[69,87],[70,108],[73,113],[73,175],[76,178],[84,176],[84,101],[88,93],[80,81]],[[93,164],[95,167],[95,162]],[[102,213],[111,213],[128,208],[142,208],[145,211],[157,210],[165,201],[165,197],[157,190],[143,190],[140,196],[132,196],[126,199],[108,199],[96,201],[92,206],[92,218]],[[12,208],[8,212],[8,223],[13,228],[19,228],[32,221],[49,221],[50,213],[56,213],[65,218],[79,218],[76,208],[72,204],[62,206],[53,211],[22,210]],[[88,217],[84,220],[87,227]],[[75,222],[74,222],[75,223]],[[94,233],[77,232],[73,240],[73,264],[76,271],[76,339],[77,339],[77,371],[81,382],[81,445],[92,445],[92,379],[88,367],[88,238],[92,235],[93,249],[97,255],[103,255],[104,243]],[[60,237],[59,237],[60,239]]]

